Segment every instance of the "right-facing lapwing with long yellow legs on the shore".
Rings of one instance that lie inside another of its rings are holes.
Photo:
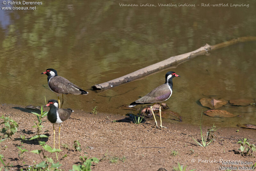
[[[164,128],[162,126],[161,104],[162,104],[163,101],[168,100],[172,95],[172,78],[174,78],[174,77],[180,77],[180,76],[175,74],[172,71],[169,71],[168,73],[165,74],[165,83],[164,84],[156,87],[151,92],[149,92],[145,96],[141,97],[140,99],[136,100],[135,102],[132,102],[129,105],[129,107],[133,107],[133,106],[136,106],[136,105],[142,105],[142,104],[150,104],[150,103],[155,104],[155,103],[160,102],[160,107],[159,107],[160,127]],[[156,117],[155,117],[153,109],[152,109],[153,105],[150,106],[150,109],[153,113],[155,123],[156,123],[156,127],[158,127],[157,122],[156,122]]]

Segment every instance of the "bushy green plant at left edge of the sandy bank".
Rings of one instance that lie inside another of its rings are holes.
[[[19,125],[12,118],[4,117],[4,115],[2,115],[0,119],[4,120],[0,123],[0,125],[4,124],[5,126],[5,128],[3,128],[1,132],[5,135],[5,138],[11,138],[11,136],[17,132]]]

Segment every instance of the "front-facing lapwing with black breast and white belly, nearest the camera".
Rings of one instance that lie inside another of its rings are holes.
[[[55,148],[55,129],[54,124],[59,124],[59,149],[60,149],[60,124],[67,120],[71,113],[74,112],[72,109],[60,109],[58,108],[59,103],[57,100],[49,100],[46,106],[50,107],[47,113],[47,119],[52,122],[53,125],[53,148]]]

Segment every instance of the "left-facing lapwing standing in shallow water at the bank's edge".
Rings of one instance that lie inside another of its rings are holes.
[[[83,94],[83,95],[88,94],[87,91],[84,91],[80,87],[68,81],[66,78],[59,76],[55,69],[52,69],[52,68],[46,69],[46,71],[41,74],[46,74],[48,76],[47,77],[48,85],[53,92],[62,94],[61,106],[60,106],[60,98],[58,95],[58,102],[59,102],[60,108],[64,103],[63,94]]]

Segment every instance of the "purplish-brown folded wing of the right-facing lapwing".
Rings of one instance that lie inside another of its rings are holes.
[[[171,90],[169,89],[168,84],[162,84],[152,91],[150,91],[145,96],[141,97],[136,103],[156,103],[163,102],[167,100],[171,95]]]

